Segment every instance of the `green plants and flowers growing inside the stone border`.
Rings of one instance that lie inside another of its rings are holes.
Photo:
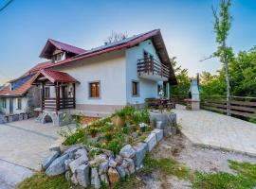
[[[136,145],[144,141],[153,129],[148,110],[136,111],[125,107],[112,116],[96,120],[83,128],[81,118],[76,117],[76,131],[62,131],[65,146],[83,144],[95,148],[104,148],[118,154],[125,144]]]

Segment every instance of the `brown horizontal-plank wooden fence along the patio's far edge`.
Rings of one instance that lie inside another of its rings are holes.
[[[230,96],[228,103],[225,95],[201,96],[201,108],[222,113],[229,111],[230,114],[235,117],[255,119],[256,97]]]

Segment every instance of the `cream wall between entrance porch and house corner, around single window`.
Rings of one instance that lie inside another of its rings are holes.
[[[83,105],[125,105],[125,51],[78,60],[54,68],[68,73],[81,83],[76,85],[76,103]],[[101,97],[89,97],[89,82],[101,82]]]

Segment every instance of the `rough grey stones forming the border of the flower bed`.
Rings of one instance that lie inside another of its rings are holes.
[[[82,145],[70,146],[66,150],[54,147],[55,151],[46,158],[42,168],[48,176],[64,174],[67,180],[76,185],[101,188],[101,183],[114,185],[121,178],[134,174],[143,167],[147,152],[151,151],[164,136],[164,129],[154,129],[137,146],[123,146],[118,155],[112,151],[101,149],[101,154],[89,159],[89,147]]]

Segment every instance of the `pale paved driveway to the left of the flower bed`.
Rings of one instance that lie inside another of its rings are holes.
[[[0,124],[0,188],[13,188],[33,170],[39,170],[59,130],[34,119]]]

